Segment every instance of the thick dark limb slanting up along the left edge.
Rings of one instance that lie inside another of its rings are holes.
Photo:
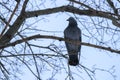
[[[21,24],[25,20],[25,8],[26,8],[28,1],[29,0],[25,0],[21,14],[17,17],[12,27],[10,27],[8,31],[1,37],[0,45],[7,44],[13,38],[14,34],[18,31],[18,29],[20,28]]]

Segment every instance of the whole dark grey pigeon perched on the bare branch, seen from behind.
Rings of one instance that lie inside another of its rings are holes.
[[[81,42],[81,30],[77,27],[77,21],[73,17],[70,17],[67,21],[69,21],[69,24],[64,30],[64,38]],[[81,45],[75,45],[68,42],[65,42],[65,44],[69,54],[69,65],[78,65]]]

